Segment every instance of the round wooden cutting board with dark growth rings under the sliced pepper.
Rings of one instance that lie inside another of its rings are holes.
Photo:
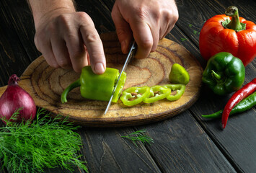
[[[121,53],[120,43],[115,33],[101,35],[107,58],[107,66],[121,70],[127,55]],[[126,107],[119,100],[112,103],[104,115],[107,102],[87,100],[81,97],[79,88],[68,95],[68,102],[61,103],[61,93],[69,84],[79,79],[79,74],[71,70],[51,68],[43,56],[27,67],[21,76],[22,86],[35,99],[37,107],[43,107],[54,114],[68,116],[76,124],[94,127],[117,127],[141,125],[164,120],[178,115],[198,99],[203,69],[200,63],[184,48],[166,38],[160,40],[154,53],[148,58],[135,59],[126,68],[125,88],[130,86],[154,86],[169,84],[168,76],[173,63],[180,63],[190,74],[183,96],[175,102],[167,99],[152,104],[142,103]],[[6,86],[1,87],[0,94]]]

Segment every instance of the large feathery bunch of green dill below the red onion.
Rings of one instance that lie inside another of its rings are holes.
[[[61,167],[74,171],[72,166],[87,172],[86,162],[79,160],[81,138],[67,118],[52,118],[44,109],[38,109],[34,121],[12,123],[1,118],[6,126],[0,127],[0,160],[8,172],[43,172],[45,168]]]

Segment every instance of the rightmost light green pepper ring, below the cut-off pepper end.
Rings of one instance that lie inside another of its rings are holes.
[[[171,89],[172,91],[176,91],[176,94],[172,95],[172,94],[169,94],[167,95],[167,99],[169,101],[175,101],[177,99],[180,99],[180,97],[182,97],[182,95],[184,94],[185,92],[185,84],[166,84],[164,85],[165,88],[169,88]]]

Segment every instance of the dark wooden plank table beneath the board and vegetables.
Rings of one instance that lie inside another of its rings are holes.
[[[101,32],[115,31],[111,19],[114,0],[78,0],[79,11],[87,12]],[[180,18],[167,35],[170,40],[185,46],[203,68],[198,39],[206,19],[223,14],[226,7],[235,5],[239,15],[256,22],[254,0],[177,0]],[[34,44],[35,28],[26,0],[0,1],[0,84],[9,76],[20,76],[40,53]],[[182,38],[186,38],[184,40]],[[256,59],[246,69],[244,84],[256,76]],[[203,85],[200,98],[180,115],[158,123],[125,128],[87,128],[79,130],[83,146],[82,159],[89,172],[255,172],[256,171],[256,111],[229,118],[225,130],[221,120],[203,120],[200,115],[221,110],[231,94],[218,97]],[[121,138],[136,130],[145,129],[154,139],[151,145]],[[2,170],[2,172],[6,172]],[[67,172],[48,169],[46,172]],[[82,172],[76,169],[76,172]]]

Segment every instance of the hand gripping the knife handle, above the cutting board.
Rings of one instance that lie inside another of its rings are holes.
[[[172,30],[178,19],[174,0],[116,0],[112,8],[118,39],[128,53],[132,38],[138,45],[136,58],[146,58]]]

